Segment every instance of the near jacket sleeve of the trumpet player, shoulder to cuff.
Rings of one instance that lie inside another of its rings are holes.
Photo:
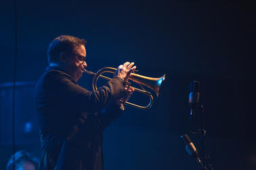
[[[125,81],[113,78],[101,88],[89,91],[79,86],[68,75],[50,72],[45,77],[45,89],[53,103],[56,100],[80,111],[98,112],[125,95]]]

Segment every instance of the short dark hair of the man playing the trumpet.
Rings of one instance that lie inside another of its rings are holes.
[[[72,53],[74,49],[86,45],[86,40],[77,38],[75,36],[61,35],[49,44],[47,51],[48,63],[60,61],[60,53]]]

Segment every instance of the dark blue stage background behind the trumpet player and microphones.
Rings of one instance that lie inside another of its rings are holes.
[[[38,80],[47,65],[49,42],[56,36],[85,38],[87,69],[93,72],[134,61],[142,75],[167,74],[150,110],[127,107],[106,130],[106,170],[198,169],[179,139],[190,128],[192,80],[200,81],[213,167],[254,169],[255,8],[249,1],[18,1],[17,81]],[[5,83],[12,82],[14,74],[14,3],[5,1],[0,9],[0,83]],[[91,81],[85,75],[79,84],[91,89]],[[27,109],[17,111],[21,117],[35,116],[29,89],[17,94],[16,103]],[[11,100],[6,105],[11,109]],[[1,114],[11,113],[1,109]],[[197,125],[199,118],[197,113]],[[2,123],[0,132],[12,133],[12,117],[1,122],[7,125]],[[22,127],[17,122],[16,127]],[[200,136],[190,138],[200,148]],[[37,134],[24,132],[16,142],[17,150],[38,156]],[[3,143],[0,169],[12,155],[12,143]]]

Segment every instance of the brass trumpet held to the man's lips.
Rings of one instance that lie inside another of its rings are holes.
[[[89,72],[87,69],[84,69],[83,72],[87,73],[87,74],[94,75],[92,86],[93,86],[93,90],[97,90],[98,89],[97,88],[98,78],[104,78],[106,80],[112,80],[112,78],[102,76],[102,74],[104,74],[104,73],[114,74],[114,72],[116,72],[116,68],[103,67],[102,69],[99,69],[99,71],[96,72],[96,73]],[[141,76],[140,74],[131,73],[131,75],[129,77],[129,80],[139,84],[140,86],[143,85],[143,86],[146,86],[146,87],[150,88],[151,90],[153,90],[156,93],[156,96],[158,96],[161,84],[165,80],[165,74],[161,78],[150,78],[150,77],[146,77],[146,76]],[[137,109],[149,109],[150,107],[152,107],[154,98],[153,98],[153,96],[150,92],[146,91],[143,87],[142,87],[143,89],[135,88],[135,87],[131,87],[131,88],[134,88],[134,90],[137,91],[137,92],[141,92],[142,94],[146,94],[150,98],[150,102],[146,106],[136,105],[136,104],[133,104],[133,103],[129,103],[127,101],[124,102],[123,104],[130,105],[131,107],[135,107]]]

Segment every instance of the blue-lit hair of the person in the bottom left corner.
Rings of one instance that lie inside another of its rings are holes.
[[[35,168],[37,169],[37,164],[38,164],[38,159],[37,157],[32,157],[29,152],[26,150],[20,150],[18,152],[15,152],[12,157],[10,157],[6,169],[7,170],[12,170],[14,169],[14,158],[15,158],[15,169],[22,169],[23,163],[25,161],[28,161],[30,163],[33,163],[35,165]]]

